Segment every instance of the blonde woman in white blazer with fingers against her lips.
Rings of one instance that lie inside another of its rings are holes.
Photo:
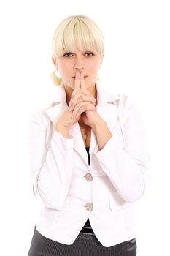
[[[149,157],[136,107],[96,82],[103,56],[90,18],[71,16],[55,30],[56,99],[28,127],[34,195],[45,206],[29,256],[136,255],[133,206]]]

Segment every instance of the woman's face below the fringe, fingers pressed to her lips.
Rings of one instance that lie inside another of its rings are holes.
[[[76,70],[84,70],[85,86],[95,86],[98,69],[101,67],[101,56],[96,50],[74,50],[65,52],[63,56],[53,59],[56,69],[61,75],[64,86],[74,89]]]

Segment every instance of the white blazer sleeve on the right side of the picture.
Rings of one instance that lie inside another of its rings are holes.
[[[147,137],[139,110],[128,97],[124,97],[118,106],[121,109],[120,126],[124,137],[124,147],[114,134],[96,158],[104,173],[123,200],[131,203],[144,195],[150,180],[147,151]]]

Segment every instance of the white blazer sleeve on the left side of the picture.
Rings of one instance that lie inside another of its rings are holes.
[[[62,208],[73,170],[73,138],[64,138],[53,129],[47,142],[50,120],[37,111],[28,122],[28,151],[31,183],[36,198],[48,208]]]

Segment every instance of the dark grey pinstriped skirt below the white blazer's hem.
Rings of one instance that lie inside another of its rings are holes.
[[[34,227],[28,256],[136,256],[136,239],[104,247],[94,233],[82,233],[73,244],[61,244],[42,236]]]

